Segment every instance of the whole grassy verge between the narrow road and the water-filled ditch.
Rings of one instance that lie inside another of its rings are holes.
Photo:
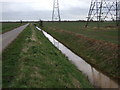
[[[85,76],[32,25],[3,52],[3,88],[91,88]]]

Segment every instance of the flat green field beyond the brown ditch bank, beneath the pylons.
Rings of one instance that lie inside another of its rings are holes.
[[[44,23],[46,27],[50,29],[57,29],[63,31],[74,32],[80,35],[84,35],[89,38],[103,40],[111,43],[118,43],[118,29],[115,27],[115,23],[103,22],[100,24],[101,28],[98,29],[97,23],[93,22],[85,28],[85,22],[64,22],[64,23]]]

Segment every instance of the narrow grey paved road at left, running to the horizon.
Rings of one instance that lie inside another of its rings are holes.
[[[2,37],[2,39],[0,39],[0,42],[2,42],[2,44],[0,44],[0,48],[2,47],[1,51],[3,51],[28,25],[29,24],[25,24],[9,32],[1,34],[0,35],[0,38]]]

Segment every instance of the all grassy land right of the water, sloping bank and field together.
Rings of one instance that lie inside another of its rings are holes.
[[[103,73],[120,79],[118,30],[115,24],[96,23],[85,28],[84,22],[45,22],[43,29]]]

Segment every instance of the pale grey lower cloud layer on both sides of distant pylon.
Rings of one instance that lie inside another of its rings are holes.
[[[87,1],[87,0],[86,0]],[[14,2],[5,2],[2,5],[2,20],[51,20],[52,10],[39,10],[32,8],[30,5],[32,3],[14,3]],[[70,19],[70,20],[78,20],[78,19],[86,19],[88,13],[88,8],[82,8],[80,6],[69,7],[69,9],[65,9],[68,6],[64,6],[63,9],[60,9],[61,19]]]

